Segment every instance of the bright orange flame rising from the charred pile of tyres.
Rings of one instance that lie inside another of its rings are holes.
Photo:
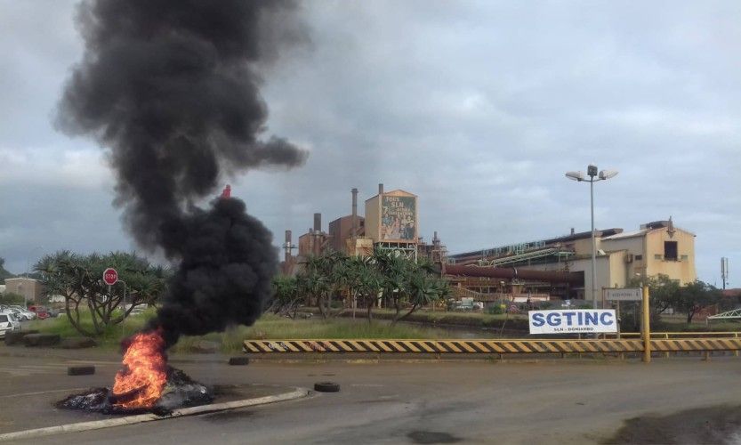
[[[167,380],[165,339],[161,329],[139,333],[124,354],[125,368],[116,374],[113,395],[123,400],[114,403],[125,409],[149,408],[153,406],[165,388]]]

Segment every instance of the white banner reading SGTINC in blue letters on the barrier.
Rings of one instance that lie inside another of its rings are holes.
[[[614,309],[528,311],[530,334],[592,334],[617,332]]]

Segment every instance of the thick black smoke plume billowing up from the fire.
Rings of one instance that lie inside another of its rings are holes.
[[[225,174],[299,166],[306,152],[265,137],[261,71],[302,42],[295,5],[276,0],[85,0],[85,39],[58,124],[108,150],[117,206],[141,247],[180,266],[155,326],[181,334],[252,324],[277,265],[270,231],[242,201],[213,194]]]

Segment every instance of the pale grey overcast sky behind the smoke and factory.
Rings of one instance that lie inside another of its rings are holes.
[[[133,249],[105,151],[55,131],[83,53],[68,0],[0,0],[0,256]],[[311,44],[265,76],[270,134],[310,150],[230,179],[294,240],[386,190],[419,196],[451,253],[667,219],[697,234],[697,274],[741,287],[741,3],[315,1]],[[362,212],[362,205],[361,212]]]

